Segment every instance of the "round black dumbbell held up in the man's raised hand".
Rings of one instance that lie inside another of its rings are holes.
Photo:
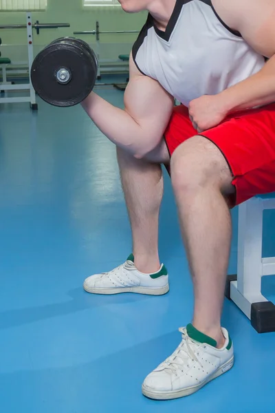
[[[63,37],[47,45],[34,59],[31,80],[45,102],[58,107],[78,105],[96,83],[98,59],[80,39]]]

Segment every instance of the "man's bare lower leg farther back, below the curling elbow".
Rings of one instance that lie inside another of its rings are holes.
[[[168,161],[164,142],[148,155],[135,159],[117,149],[122,188],[133,235],[135,266],[142,273],[159,270],[158,225],[163,195],[160,163]]]

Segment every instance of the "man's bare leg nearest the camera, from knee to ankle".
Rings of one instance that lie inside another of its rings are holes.
[[[231,220],[223,193],[234,191],[223,155],[195,136],[172,156],[171,175],[195,290],[193,325],[222,347],[221,312],[228,269]]]

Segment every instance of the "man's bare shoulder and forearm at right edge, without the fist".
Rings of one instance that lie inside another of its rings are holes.
[[[275,102],[275,0],[213,0],[221,19],[248,44],[269,58],[263,69],[219,96],[225,112]]]

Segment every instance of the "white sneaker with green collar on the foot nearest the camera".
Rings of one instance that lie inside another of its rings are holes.
[[[225,345],[217,342],[188,324],[179,328],[182,341],[177,350],[146,377],[142,393],[150,399],[168,400],[197,392],[209,381],[233,367],[232,341],[225,328]]]

